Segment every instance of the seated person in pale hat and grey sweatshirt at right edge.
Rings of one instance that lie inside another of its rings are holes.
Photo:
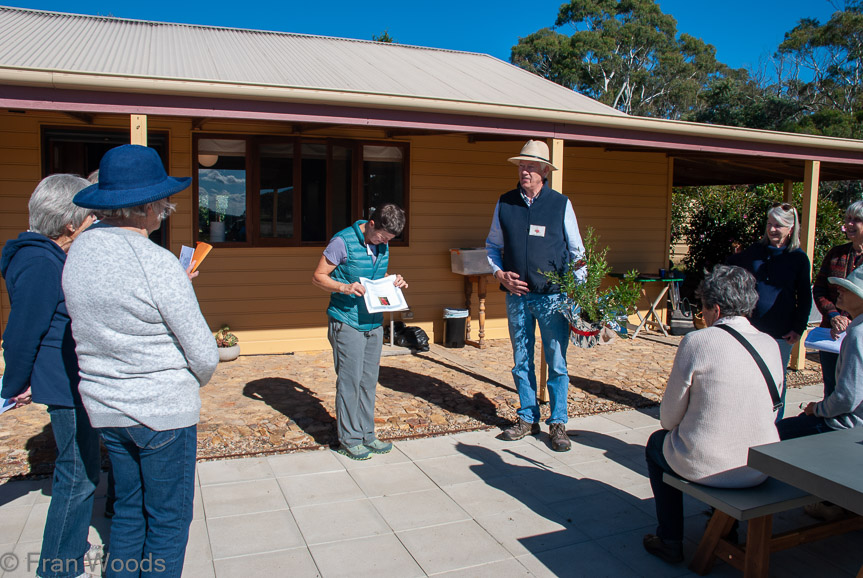
[[[776,424],[783,440],[863,427],[863,267],[852,271],[847,279],[827,279],[839,291],[836,305],[851,316],[836,364],[836,389],[820,402],[810,402],[803,413],[787,417]]]

